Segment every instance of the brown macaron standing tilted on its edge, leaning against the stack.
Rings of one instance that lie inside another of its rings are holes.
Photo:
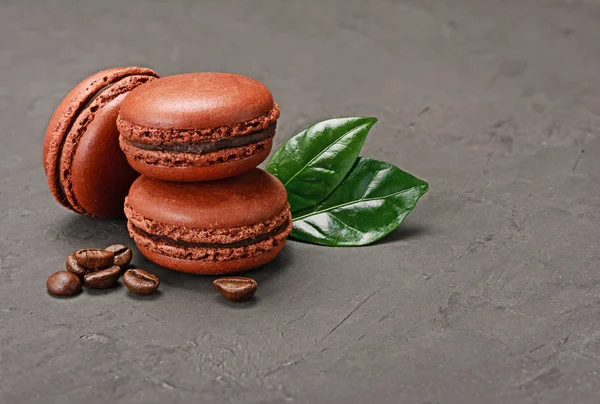
[[[91,216],[123,215],[138,174],[119,148],[116,119],[126,94],[157,77],[141,67],[103,70],[59,104],[46,129],[42,158],[50,191],[61,205]]]

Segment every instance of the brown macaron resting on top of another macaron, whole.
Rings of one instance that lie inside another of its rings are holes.
[[[230,73],[164,77],[132,91],[117,122],[131,166],[166,181],[251,170],[269,154],[279,107],[269,89]]]

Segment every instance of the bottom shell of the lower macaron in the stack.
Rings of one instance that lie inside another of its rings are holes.
[[[283,249],[285,241],[261,255],[230,261],[184,260],[151,251],[137,241],[136,245],[144,257],[162,267],[196,275],[225,275],[258,268],[273,261]]]

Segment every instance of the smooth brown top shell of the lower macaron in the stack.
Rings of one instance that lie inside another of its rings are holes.
[[[211,182],[163,182],[139,177],[126,204],[147,219],[198,229],[250,226],[287,209],[287,193],[273,175],[255,168]]]

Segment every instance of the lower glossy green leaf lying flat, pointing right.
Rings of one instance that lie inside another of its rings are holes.
[[[293,216],[292,237],[328,246],[359,246],[402,223],[429,185],[398,167],[359,158],[327,199]]]

